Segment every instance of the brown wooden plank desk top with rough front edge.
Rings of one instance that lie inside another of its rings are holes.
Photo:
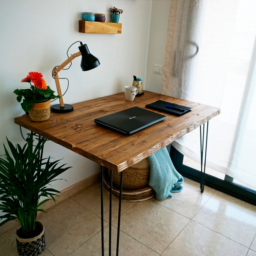
[[[44,122],[33,122],[29,116],[20,116],[15,118],[15,123],[102,166],[122,172],[220,113],[219,108],[144,92],[132,102],[125,100],[124,93],[118,93],[73,104],[71,113],[51,112],[50,119]],[[118,134],[94,122],[96,117],[126,108],[145,108],[146,104],[158,99],[190,107],[192,111],[180,117],[164,113],[167,119],[131,135]]]

